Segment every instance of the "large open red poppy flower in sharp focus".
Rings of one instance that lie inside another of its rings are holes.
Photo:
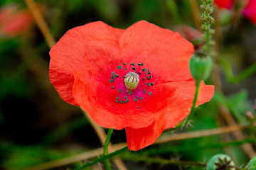
[[[129,149],[138,150],[188,115],[192,54],[193,45],[179,33],[146,21],[126,30],[98,21],[68,30],[52,47],[50,81],[98,125],[125,128]],[[214,86],[202,84],[198,105],[213,93]]]

